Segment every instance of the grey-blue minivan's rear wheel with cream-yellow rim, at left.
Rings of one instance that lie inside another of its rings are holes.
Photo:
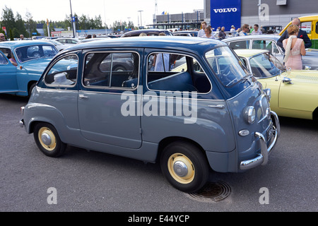
[[[66,149],[66,144],[61,142],[57,130],[51,124],[36,124],[33,136],[37,147],[49,157],[59,157]]]

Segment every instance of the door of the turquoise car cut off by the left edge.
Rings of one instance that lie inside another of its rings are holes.
[[[17,92],[16,66],[0,51],[0,93]]]

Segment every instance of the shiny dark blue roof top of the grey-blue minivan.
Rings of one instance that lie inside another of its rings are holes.
[[[91,49],[101,47],[134,47],[134,48],[164,48],[175,50],[179,47],[181,50],[191,51],[194,49],[200,52],[206,52],[207,48],[216,46],[227,46],[224,42],[206,38],[179,37],[179,36],[145,36],[145,37],[129,37],[129,38],[109,38],[100,39],[93,42],[76,44],[69,47],[69,51],[78,49]],[[199,49],[198,49],[199,48]]]

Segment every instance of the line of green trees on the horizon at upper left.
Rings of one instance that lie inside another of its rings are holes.
[[[95,18],[90,18],[86,15],[78,16],[76,13],[74,13],[73,17],[76,18],[75,30],[105,29],[105,27],[106,29],[112,30],[124,30],[125,28],[134,28],[134,23],[132,23],[131,21],[129,21],[129,23],[126,23],[126,21],[114,21],[112,26],[110,26],[109,28],[107,25],[102,24],[102,18],[100,15],[95,16]],[[55,28],[63,28],[64,30],[68,30],[68,28],[72,28],[71,21],[71,15],[66,15],[65,19],[62,21],[49,20],[49,30],[50,32],[54,31]],[[33,35],[33,33],[40,35],[37,32],[37,24],[43,25],[45,36],[48,36],[47,21],[33,20],[32,14],[28,11],[25,13],[25,17],[23,18],[18,12],[15,16],[12,9],[8,8],[7,6],[5,6],[2,9],[0,20],[0,32],[4,33],[4,35],[7,36],[6,39],[10,38],[10,40],[13,40],[14,38],[20,37],[21,34],[24,35],[24,37],[35,36]],[[2,27],[6,27],[6,33],[4,32],[4,30],[2,30]]]

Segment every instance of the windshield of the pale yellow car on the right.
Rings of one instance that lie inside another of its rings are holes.
[[[252,73],[257,78],[269,78],[277,76],[285,68],[278,59],[269,53],[259,54],[249,59]]]

